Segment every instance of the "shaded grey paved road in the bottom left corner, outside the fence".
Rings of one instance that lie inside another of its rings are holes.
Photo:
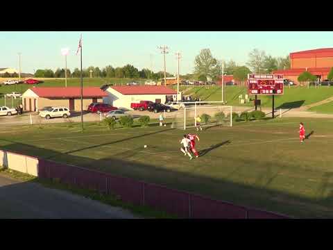
[[[0,219],[134,219],[132,213],[0,174]]]

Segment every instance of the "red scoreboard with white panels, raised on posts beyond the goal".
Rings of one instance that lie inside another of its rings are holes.
[[[248,74],[248,94],[283,94],[283,75]]]

